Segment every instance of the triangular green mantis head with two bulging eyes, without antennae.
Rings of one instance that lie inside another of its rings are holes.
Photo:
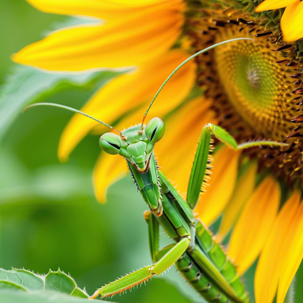
[[[122,131],[122,136],[105,133],[100,137],[99,145],[110,155],[121,155],[137,171],[143,173],[149,168],[149,160],[155,143],[161,140],[165,132],[165,123],[161,118],[152,118],[148,124],[135,125]]]

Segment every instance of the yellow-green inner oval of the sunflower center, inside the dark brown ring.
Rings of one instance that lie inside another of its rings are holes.
[[[242,36],[244,32],[241,32]],[[226,31],[222,36],[217,35],[218,41],[236,35]],[[268,48],[248,40],[232,42],[216,48],[214,60],[222,88],[243,121],[256,133],[285,140],[289,129],[280,128],[277,132],[276,128],[281,127],[281,122],[287,122],[278,103],[287,102],[281,88],[287,88],[288,84],[284,79],[285,71],[275,63],[277,59]],[[289,120],[288,124],[293,126]]]

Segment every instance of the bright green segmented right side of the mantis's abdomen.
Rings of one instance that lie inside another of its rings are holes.
[[[200,221],[196,223],[196,240],[203,252],[208,256],[215,267],[235,291],[239,302],[249,302],[248,293],[245,290],[235,266],[228,259],[225,251],[215,240],[211,231]]]

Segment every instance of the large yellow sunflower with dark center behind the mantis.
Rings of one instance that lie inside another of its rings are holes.
[[[182,67],[149,115],[166,120],[155,152],[181,192],[208,122],[223,126],[237,142],[267,138],[289,144],[242,153],[217,148],[211,186],[196,208],[207,225],[222,215],[219,240],[232,229],[228,254],[239,274],[259,256],[256,302],[270,303],[277,292],[282,303],[303,257],[303,45],[297,40],[303,36],[302,3],[265,0],[256,8],[256,0],[27,1],[43,12],[96,19],[53,32],[13,60],[47,71],[125,68],[82,108],[118,129],[141,121],[163,80],[189,55],[230,38],[253,38],[221,45]],[[73,116],[59,158],[66,161],[88,132],[106,131]],[[97,199],[105,201],[108,186],[126,173],[122,157],[102,153],[94,169]]]

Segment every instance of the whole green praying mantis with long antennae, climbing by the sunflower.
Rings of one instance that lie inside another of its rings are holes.
[[[228,259],[220,244],[215,242],[208,228],[195,217],[193,209],[198,203],[200,193],[204,190],[205,183],[211,174],[212,157],[209,154],[212,150],[211,135],[235,150],[261,145],[281,146],[287,144],[268,140],[238,144],[225,129],[212,123],[206,124],[199,138],[191,168],[187,197],[184,200],[158,169],[155,161],[154,147],[155,143],[164,135],[164,121],[160,118],[152,118],[147,125],[144,125],[151,105],[164,85],[179,68],[211,48],[241,39],[250,38],[226,40],[187,58],[161,85],[145,112],[142,124],[126,128],[122,132],[86,113],[64,105],[35,103],[27,107],[50,105],[65,108],[92,118],[115,131],[117,134],[113,132],[103,134],[99,140],[99,145],[106,153],[122,156],[126,160],[138,190],[149,207],[149,210],[144,212],[144,218],[148,223],[148,238],[153,263],[102,286],[91,296],[92,299],[98,295],[108,297],[122,293],[148,281],[154,275],[160,275],[175,264],[184,278],[207,301],[249,302],[248,292],[245,290],[235,266]],[[159,226],[173,240],[171,245],[162,249],[159,249]]]

